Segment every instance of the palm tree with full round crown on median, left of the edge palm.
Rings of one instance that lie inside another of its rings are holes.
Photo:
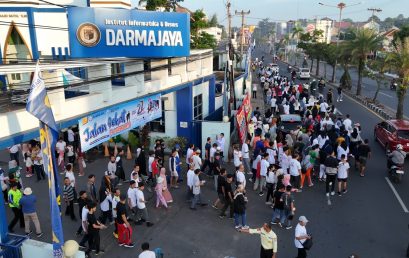
[[[355,39],[349,41],[353,59],[358,63],[358,85],[356,95],[361,95],[363,71],[368,60],[368,55],[379,50],[382,46],[383,38],[378,36],[371,29],[355,30]]]

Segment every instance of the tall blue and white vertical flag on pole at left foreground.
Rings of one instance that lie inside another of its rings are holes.
[[[51,110],[44,80],[40,76],[37,64],[28,96],[26,110],[40,120],[40,142],[43,154],[44,171],[48,176],[50,195],[53,257],[63,258],[62,246],[64,236],[61,222],[61,191],[58,184],[57,163],[55,162],[55,145],[58,140],[58,129]]]

